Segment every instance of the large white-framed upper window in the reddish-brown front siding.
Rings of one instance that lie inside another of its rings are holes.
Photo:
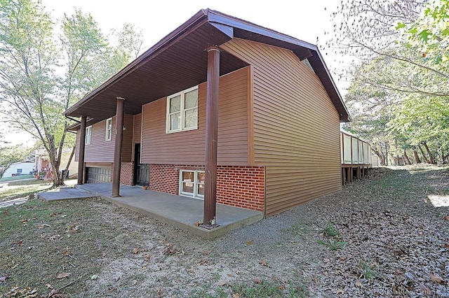
[[[198,86],[167,97],[166,133],[198,128]]]

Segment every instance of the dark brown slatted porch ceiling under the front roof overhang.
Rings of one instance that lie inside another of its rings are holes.
[[[90,124],[104,120],[115,115],[116,97],[125,98],[125,113],[135,115],[142,111],[144,104],[205,82],[206,49],[231,38],[208,22],[196,24],[196,27],[166,48],[155,49],[153,55],[141,61],[135,69],[123,73],[113,84],[104,84],[101,90],[88,94],[87,100],[69,108],[65,115],[85,115],[91,118]],[[220,76],[247,65],[227,52],[221,52]]]

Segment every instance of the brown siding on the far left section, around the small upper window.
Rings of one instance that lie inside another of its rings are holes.
[[[123,147],[121,149],[121,162],[131,162],[133,155],[133,115],[125,115],[123,126]],[[86,145],[84,162],[114,162],[115,117],[112,118],[112,138],[105,141],[106,120],[92,125],[91,144]],[[79,134],[76,134],[76,148],[79,148]],[[76,150],[75,161],[79,160]]]

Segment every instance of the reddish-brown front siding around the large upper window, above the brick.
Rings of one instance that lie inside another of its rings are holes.
[[[218,152],[220,165],[248,165],[248,69],[220,77]],[[199,85],[198,129],[166,134],[166,97],[143,106],[142,163],[204,164],[206,83]]]

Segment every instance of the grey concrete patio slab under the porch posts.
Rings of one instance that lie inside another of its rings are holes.
[[[194,225],[195,222],[203,219],[204,202],[199,199],[143,190],[142,187],[128,185],[120,185],[121,197],[113,198],[111,197],[112,183],[89,183],[75,185],[75,187],[206,239],[216,238],[232,229],[250,225],[263,218],[263,213],[260,211],[217,204],[216,222],[219,226],[205,229]]]

